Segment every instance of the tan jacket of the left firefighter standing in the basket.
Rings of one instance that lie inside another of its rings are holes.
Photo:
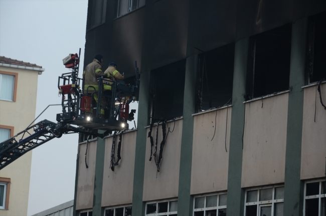
[[[110,74],[104,74],[102,72],[101,63],[94,59],[92,63],[88,64],[83,73],[83,79],[85,80],[84,92],[87,91],[89,86],[93,86],[96,91],[98,91],[98,81],[97,78],[103,76],[104,78],[110,78]],[[89,87],[88,92],[92,93],[94,88]]]

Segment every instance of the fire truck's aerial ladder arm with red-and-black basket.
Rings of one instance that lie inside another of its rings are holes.
[[[126,85],[120,80],[99,77],[98,91],[89,91],[95,89],[92,86],[82,91],[80,86],[82,79],[78,78],[80,51],[79,49],[79,55],[69,54],[63,59],[63,64],[71,69],[71,72],[62,74],[58,79],[59,95],[62,96],[62,113],[57,114],[57,122],[42,120],[1,142],[0,170],[28,151],[54,138],[60,138],[63,134],[79,133],[103,138],[113,131],[129,128],[127,121],[132,121],[136,112],[131,110],[129,113],[129,103],[136,100],[134,92],[139,85],[137,63],[135,62],[135,85]],[[111,86],[110,95],[104,95],[102,91],[104,85]],[[94,99],[94,94],[98,98],[97,101]],[[110,101],[106,107],[101,107],[102,97]],[[104,109],[105,117],[101,115],[101,109]]]

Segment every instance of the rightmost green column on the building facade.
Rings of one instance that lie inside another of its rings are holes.
[[[307,18],[292,24],[289,101],[285,154],[284,215],[302,215],[303,182],[300,180],[303,90]]]

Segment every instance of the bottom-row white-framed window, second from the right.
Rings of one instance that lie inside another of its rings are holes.
[[[284,186],[250,188],[245,195],[245,216],[283,215]]]

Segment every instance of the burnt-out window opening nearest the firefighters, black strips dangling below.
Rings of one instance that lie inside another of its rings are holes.
[[[183,115],[185,72],[186,60],[151,71],[149,94],[154,122]]]

